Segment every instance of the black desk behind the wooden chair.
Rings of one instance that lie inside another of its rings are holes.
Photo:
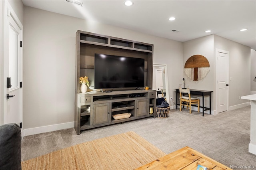
[[[178,94],[180,94],[180,89],[175,89],[176,90],[176,109],[178,107]],[[206,91],[206,90],[194,90],[194,89],[190,89],[190,95],[198,95],[198,96],[202,96],[202,109],[203,109],[203,116],[204,116],[204,111],[208,111],[210,110],[210,114],[211,114],[211,102],[212,102],[212,92],[213,91]],[[209,102],[209,106],[210,107],[204,107],[204,97],[205,96],[209,96],[210,97],[210,102]]]

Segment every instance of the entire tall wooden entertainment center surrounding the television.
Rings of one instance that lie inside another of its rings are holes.
[[[126,40],[111,36],[76,32],[76,83],[75,83],[75,123],[77,134],[89,128],[122,123],[145,117],[156,117],[156,91],[152,89],[153,49],[149,43]],[[94,89],[95,54],[116,55],[144,59],[144,87],[116,89]],[[88,76],[90,89],[80,92],[79,78]],[[93,90],[92,90],[93,89]],[[112,90],[110,93],[106,91]],[[154,113],[149,108],[154,107]],[[131,113],[129,118],[113,119],[112,115]]]

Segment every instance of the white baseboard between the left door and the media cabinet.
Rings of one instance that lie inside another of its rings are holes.
[[[22,138],[24,136],[33,135],[33,134],[39,134],[44,132],[52,132],[55,130],[62,130],[66,128],[73,128],[74,122],[68,122],[68,123],[61,123],[57,125],[49,125],[44,127],[35,127],[35,128],[28,128],[22,130]]]

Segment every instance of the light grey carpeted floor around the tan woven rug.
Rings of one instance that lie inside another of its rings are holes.
[[[250,106],[218,115],[186,109],[171,110],[166,119],[146,118],[106,127],[84,130],[76,135],[73,128],[25,136],[22,160],[28,160],[82,142],[134,131],[154,146],[169,154],[189,146],[230,167],[254,166],[256,155],[248,152],[250,143]]]

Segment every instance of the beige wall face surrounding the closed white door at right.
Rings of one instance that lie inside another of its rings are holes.
[[[250,95],[250,47],[214,35],[214,49],[216,48],[229,51],[228,106],[229,109],[236,109],[248,102],[239,99],[239,96]]]

